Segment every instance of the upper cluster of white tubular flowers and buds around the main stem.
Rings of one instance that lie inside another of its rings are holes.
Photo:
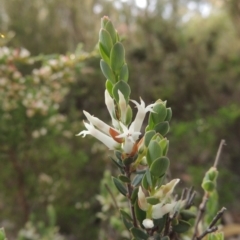
[[[127,104],[121,91],[119,94],[119,111],[120,117],[117,118],[115,112],[114,100],[105,91],[105,103],[112,119],[113,127],[109,126],[100,119],[91,116],[88,112],[83,111],[89,123],[84,122],[87,130],[81,131],[77,136],[85,137],[87,134],[92,135],[102,143],[104,143],[110,150],[121,150],[123,154],[135,155],[138,150],[138,140],[141,135],[141,127],[147,112],[152,112],[155,104],[150,104],[145,107],[144,101],[141,99],[141,104],[136,101],[132,102],[136,105],[138,112],[135,120],[128,126],[125,124],[126,119],[131,117],[130,106]],[[128,116],[130,114],[130,116]]]

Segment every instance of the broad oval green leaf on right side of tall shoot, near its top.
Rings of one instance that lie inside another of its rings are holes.
[[[125,63],[125,50],[122,43],[117,42],[113,45],[110,53],[110,66],[116,73],[120,73],[120,70]]]

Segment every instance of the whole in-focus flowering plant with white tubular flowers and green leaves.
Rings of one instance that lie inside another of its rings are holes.
[[[119,210],[132,239],[178,239],[179,234],[189,229],[192,229],[192,239],[201,239],[216,231],[216,219],[221,217],[225,209],[216,215],[214,222],[210,223],[205,231],[199,233],[201,211],[206,207],[205,199],[209,199],[215,192],[218,173],[216,166],[204,177],[204,202],[195,227],[191,228],[191,219],[195,218],[195,214],[190,208],[195,192],[191,188],[184,190],[180,198],[174,197],[173,191],[180,179],[169,181],[167,174],[170,165],[167,157],[169,141],[165,135],[170,128],[171,108],[161,99],[149,105],[141,98],[140,103],[130,99],[125,50],[108,17],[101,20],[99,51],[102,58],[100,67],[107,79],[105,104],[112,125],[83,111],[88,122],[84,122],[86,130],[81,131],[78,136],[92,135],[109,150],[114,151],[112,161],[120,174],[112,177],[112,180],[129,202],[129,211]],[[130,102],[137,108],[134,120]],[[147,113],[148,124],[143,130],[142,125]],[[223,238],[221,234],[209,236],[213,239],[219,236]]]

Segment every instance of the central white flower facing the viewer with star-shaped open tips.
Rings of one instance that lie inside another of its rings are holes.
[[[123,150],[125,153],[130,154],[141,132],[134,132],[131,127],[128,129],[123,123],[119,123],[123,133],[119,134],[116,138],[124,138]]]

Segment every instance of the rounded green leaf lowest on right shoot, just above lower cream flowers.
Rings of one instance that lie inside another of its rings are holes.
[[[160,157],[152,163],[150,167],[150,172],[155,177],[161,177],[166,173],[169,164],[170,161],[167,157]]]

